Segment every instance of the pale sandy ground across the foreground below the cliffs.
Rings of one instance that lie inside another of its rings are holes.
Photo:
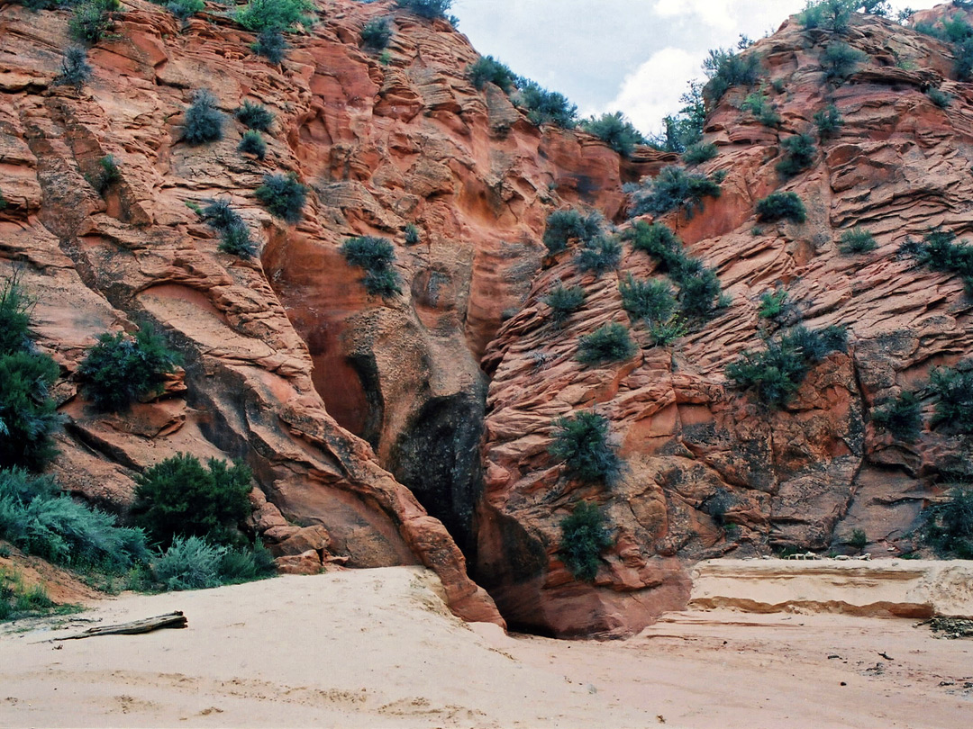
[[[0,726],[967,727],[973,641],[917,620],[670,613],[629,641],[468,626],[432,573],[285,576],[4,627]],[[49,642],[173,609],[185,630]]]

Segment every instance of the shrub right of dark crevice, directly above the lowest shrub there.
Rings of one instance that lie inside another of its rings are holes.
[[[608,421],[590,410],[554,422],[554,440],[548,452],[564,463],[571,478],[586,483],[611,482],[621,469],[615,449],[608,443]]]

